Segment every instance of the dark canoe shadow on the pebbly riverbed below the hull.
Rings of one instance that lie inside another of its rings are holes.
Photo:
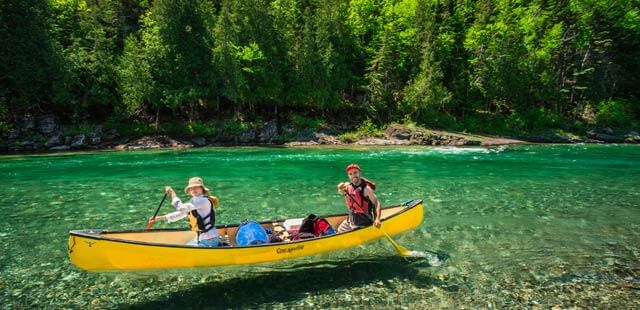
[[[398,279],[416,287],[438,286],[457,291],[456,284],[419,272],[429,267],[424,262],[408,262],[398,256],[382,256],[369,260],[323,261],[296,264],[287,268],[261,268],[249,278],[214,281],[172,293],[166,298],[135,305],[120,305],[126,309],[173,308],[246,308],[261,304],[291,302],[308,294],[362,286],[379,281]],[[385,282],[385,285],[388,283]],[[374,284],[375,285],[375,284]]]

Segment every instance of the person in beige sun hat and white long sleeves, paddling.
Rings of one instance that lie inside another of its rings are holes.
[[[220,237],[215,226],[215,206],[220,203],[220,200],[215,196],[209,195],[209,189],[204,185],[202,178],[193,177],[189,179],[187,186],[184,188],[184,192],[191,196],[191,200],[187,203],[183,203],[170,186],[165,187],[164,191],[171,195],[171,204],[176,208],[176,211],[151,218],[149,219],[150,223],[159,221],[172,223],[189,217],[191,229],[197,232],[197,237],[189,242],[189,245],[206,247],[220,245]]]

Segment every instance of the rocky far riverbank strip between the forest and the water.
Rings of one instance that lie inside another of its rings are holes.
[[[314,146],[314,145],[429,145],[429,146],[496,146],[529,143],[640,143],[633,130],[591,127],[584,133],[546,129],[535,134],[496,136],[449,132],[416,126],[390,124],[384,128],[349,128],[344,124],[294,126],[276,120],[252,126],[230,126],[199,129],[197,132],[122,133],[105,125],[83,125],[78,129],[61,126],[54,117],[27,120],[23,127],[0,137],[0,152],[41,153],[70,150],[140,150],[192,148],[205,146]],[[204,133],[204,134],[202,134]]]

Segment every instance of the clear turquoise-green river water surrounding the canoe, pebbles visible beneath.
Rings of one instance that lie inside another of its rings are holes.
[[[423,225],[396,240],[446,253],[442,266],[404,261],[385,240],[195,270],[93,273],[67,258],[69,230],[143,228],[163,187],[195,175],[221,199],[219,223],[343,212],[335,187],[351,162],[384,204],[425,200]],[[6,309],[640,307],[638,146],[2,156],[0,185]]]

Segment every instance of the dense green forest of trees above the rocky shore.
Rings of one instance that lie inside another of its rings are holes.
[[[0,129],[637,128],[638,0],[1,0]],[[164,128],[168,128],[164,126]]]

